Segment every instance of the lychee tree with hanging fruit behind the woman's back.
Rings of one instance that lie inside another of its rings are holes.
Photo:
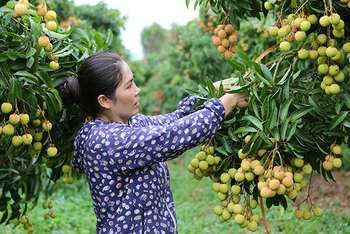
[[[58,179],[73,182],[73,140],[85,115],[64,107],[57,89],[83,59],[108,49],[113,34],[80,29],[73,37],[43,0],[8,1],[0,28],[0,223],[21,223],[30,233],[27,210],[39,196],[51,204]],[[52,204],[44,208],[45,218],[55,217]]]

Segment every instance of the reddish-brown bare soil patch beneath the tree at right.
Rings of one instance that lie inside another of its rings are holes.
[[[296,205],[309,194],[316,206],[323,209],[336,206],[341,207],[342,213],[350,212],[350,171],[333,171],[332,175],[335,181],[327,181],[320,174],[312,175],[310,190],[307,189],[308,186],[302,190],[302,196],[298,196]]]

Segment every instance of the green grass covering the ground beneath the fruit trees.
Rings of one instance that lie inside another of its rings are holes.
[[[183,156],[169,162],[179,234],[253,233],[246,228],[240,228],[233,220],[221,223],[213,213],[213,208],[219,204],[219,201],[216,193],[211,189],[211,180],[204,178],[198,181],[187,171],[187,165],[196,152],[197,149],[190,150]],[[45,220],[43,216],[47,210],[44,210],[41,206],[30,210],[28,215],[35,227],[34,233],[95,233],[96,218],[85,181],[76,181],[73,185],[58,183],[57,191],[50,199],[54,204],[53,210],[57,213],[57,217]],[[43,201],[41,199],[39,204]],[[342,213],[339,203],[335,203],[332,207],[322,207],[322,217],[312,217],[307,221],[297,220],[294,217],[292,205],[290,203],[287,210],[275,206],[271,207],[270,210],[266,209],[271,234],[350,233],[350,214]],[[261,216],[260,209],[257,208],[254,211]],[[2,225],[0,226],[0,233],[22,234],[26,231],[22,226],[13,228],[13,225]],[[254,233],[266,233],[261,223],[258,231]]]

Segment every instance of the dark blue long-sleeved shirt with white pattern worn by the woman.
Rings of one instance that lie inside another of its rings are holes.
[[[169,114],[137,114],[129,125],[84,124],[73,168],[86,175],[97,233],[178,233],[166,161],[212,138],[225,115],[218,99],[194,111],[196,101],[188,96]]]

